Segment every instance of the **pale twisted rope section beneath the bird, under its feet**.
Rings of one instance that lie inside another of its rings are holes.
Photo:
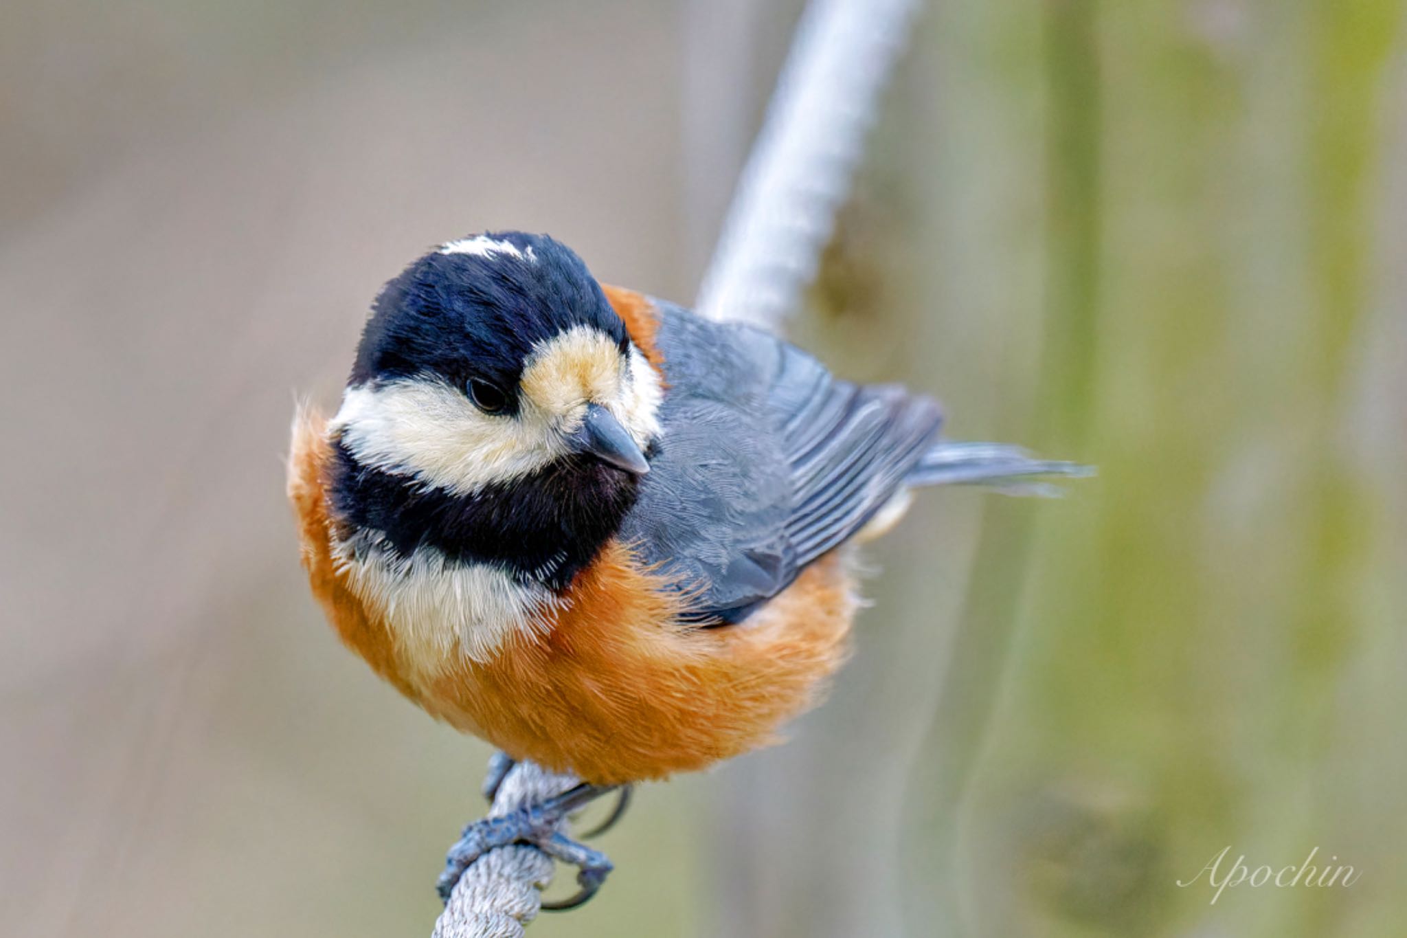
[[[490,817],[561,795],[577,779],[519,762],[504,778]],[[566,833],[566,823],[560,828]],[[459,878],[433,938],[522,938],[542,908],[542,889],[552,882],[553,861],[536,847],[499,847],[480,856]]]

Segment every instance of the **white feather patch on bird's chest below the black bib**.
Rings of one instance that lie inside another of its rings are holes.
[[[397,557],[374,532],[333,543],[333,558],[357,598],[390,626],[405,664],[425,676],[456,655],[485,662],[514,636],[546,634],[561,608],[546,586],[498,567],[454,563],[433,547]]]

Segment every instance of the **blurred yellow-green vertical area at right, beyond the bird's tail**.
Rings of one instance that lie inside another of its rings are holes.
[[[1026,437],[1100,477],[1034,534],[964,789],[962,934],[1407,927],[1404,696],[1382,662],[1404,606],[1380,458],[1400,465],[1401,437],[1365,443],[1383,428],[1363,406],[1393,394],[1365,368],[1403,301],[1377,293],[1376,239],[1400,13],[1043,10],[1050,291]],[[1005,527],[979,613],[1019,585],[1005,558],[1027,532]],[[1173,889],[1228,844],[1252,866],[1317,845],[1365,872],[1216,907]]]

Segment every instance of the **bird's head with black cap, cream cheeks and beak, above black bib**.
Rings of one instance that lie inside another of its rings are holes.
[[[471,495],[554,464],[646,474],[660,397],[582,260],[499,232],[445,243],[386,285],[332,426],[364,467]]]

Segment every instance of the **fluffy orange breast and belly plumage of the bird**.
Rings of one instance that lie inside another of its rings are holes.
[[[288,492],[304,565],[342,640],[431,714],[515,758],[598,783],[699,769],[777,740],[844,660],[855,612],[847,558],[830,554],[740,626],[688,627],[678,599],[613,543],[578,575],[550,630],[476,662],[404,667],[390,629],[332,564],[321,418],[294,428]]]

